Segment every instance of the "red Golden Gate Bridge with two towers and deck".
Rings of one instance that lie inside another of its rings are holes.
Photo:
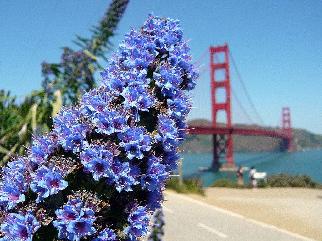
[[[233,134],[241,135],[262,135],[281,138],[283,140],[283,151],[292,151],[292,135],[289,107],[282,108],[282,129],[281,132],[268,131],[262,128],[241,128],[232,125],[231,111],[231,81],[229,72],[229,51],[228,45],[213,47],[210,46],[210,91],[211,91],[211,126],[189,126],[190,134],[212,134],[213,138],[213,161],[211,169],[216,170],[220,167],[235,167],[233,158]],[[204,55],[204,54],[203,54]],[[221,55],[223,58],[218,58]],[[202,56],[203,57],[203,56]],[[202,58],[201,57],[201,58]],[[207,68],[206,68],[207,69]],[[205,69],[205,70],[206,70]],[[218,78],[217,72],[221,71],[223,78]],[[203,72],[200,73],[202,75]],[[225,92],[224,100],[219,100],[217,90]],[[216,122],[218,112],[225,112],[226,125],[218,125]],[[220,163],[219,159],[225,158],[227,162]]]

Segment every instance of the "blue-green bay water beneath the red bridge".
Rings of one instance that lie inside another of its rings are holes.
[[[212,153],[180,153],[184,178],[202,178],[204,187],[209,187],[217,179],[227,178],[237,181],[235,171],[199,171],[199,167],[210,167]],[[322,183],[322,150],[308,150],[292,153],[233,153],[235,165],[255,166],[258,172],[291,175],[308,174],[314,181]],[[249,182],[249,171],[244,171],[244,181]],[[176,172],[177,174],[177,172]]]

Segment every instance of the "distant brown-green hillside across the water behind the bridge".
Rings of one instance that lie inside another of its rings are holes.
[[[188,125],[210,126],[208,120],[193,120]],[[280,129],[273,127],[260,127],[255,125],[235,125],[239,127],[256,127],[270,131]],[[303,129],[292,129],[294,150],[304,150],[309,148],[322,148],[322,135],[315,135]],[[233,147],[235,152],[279,152],[282,149],[282,140],[268,136],[233,135]],[[191,152],[211,152],[211,135],[188,135],[187,140],[179,147],[181,150]]]

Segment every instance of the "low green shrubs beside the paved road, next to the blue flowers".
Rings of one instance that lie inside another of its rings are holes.
[[[172,178],[166,181],[166,188],[172,189],[181,193],[196,193],[204,196],[204,187],[201,179],[187,178],[183,180],[183,185],[179,185],[178,178]]]

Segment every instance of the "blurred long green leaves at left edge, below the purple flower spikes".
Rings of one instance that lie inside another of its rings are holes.
[[[38,98],[41,91],[33,92],[26,97],[20,105],[15,104],[15,99],[10,93],[0,91],[0,164],[4,165],[15,153],[22,155],[24,147],[29,146],[32,134],[41,134],[40,130],[49,131],[51,126],[50,104],[46,98]],[[52,102],[55,105],[56,99]]]

